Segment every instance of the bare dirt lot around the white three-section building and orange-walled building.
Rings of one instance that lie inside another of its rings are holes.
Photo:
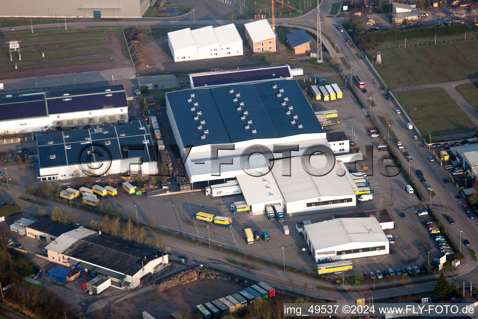
[[[172,29],[171,31],[173,31]],[[277,51],[275,53],[267,54],[253,54],[250,50],[249,44],[246,41],[244,28],[238,27],[238,32],[242,37],[243,52],[241,56],[221,57],[216,59],[195,60],[175,63],[173,61],[171,50],[168,45],[167,32],[159,33],[161,36],[155,36],[154,40],[147,42],[132,41],[134,51],[139,58],[135,59],[135,67],[138,75],[144,76],[157,72],[173,72],[182,73],[192,71],[209,71],[210,69],[221,68],[235,68],[247,67],[258,64],[268,64],[268,62],[290,61],[291,58],[303,57],[306,55],[293,55],[290,48],[286,47],[286,40],[278,38]],[[316,42],[311,43],[311,48],[316,46]]]

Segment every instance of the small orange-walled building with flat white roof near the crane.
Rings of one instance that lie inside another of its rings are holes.
[[[244,27],[252,52],[275,52],[275,33],[267,19],[246,23]]]

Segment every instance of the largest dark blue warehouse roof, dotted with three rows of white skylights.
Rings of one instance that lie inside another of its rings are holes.
[[[234,101],[236,94],[240,97]],[[166,93],[166,98],[174,116],[170,121],[185,147],[324,132],[294,79],[185,89]]]

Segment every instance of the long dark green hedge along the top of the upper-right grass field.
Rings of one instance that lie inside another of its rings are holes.
[[[387,41],[398,41],[407,39],[416,39],[416,38],[423,38],[427,36],[435,36],[436,35],[450,35],[450,34],[457,34],[457,33],[465,33],[470,31],[478,31],[478,27],[476,25],[468,25],[464,24],[455,24],[447,27],[421,27],[419,29],[410,29],[410,30],[400,30],[400,29],[392,29],[386,32],[379,32],[374,31],[362,36],[356,36],[354,38],[355,43],[359,44],[362,41],[378,41],[378,42],[387,42]]]

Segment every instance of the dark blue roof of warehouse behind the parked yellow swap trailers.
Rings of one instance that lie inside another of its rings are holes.
[[[40,168],[137,157],[141,157],[142,162],[156,161],[144,120],[98,129],[38,134],[36,143]]]

